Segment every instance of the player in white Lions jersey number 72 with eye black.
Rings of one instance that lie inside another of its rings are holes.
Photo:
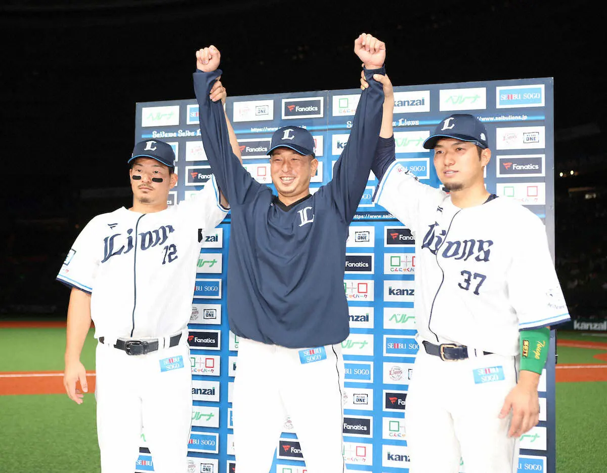
[[[218,83],[213,98],[225,90]],[[238,151],[236,147],[235,153]],[[80,353],[95,324],[97,435],[104,473],[132,473],[143,429],[157,473],[187,471],[192,416],[188,322],[200,254],[198,231],[226,216],[214,178],[168,207],[177,183],[171,145],[138,142],[128,159],[130,209],[92,218],[57,280],[70,286],[64,385],[78,404],[87,392]],[[202,239],[204,241],[204,239]]]

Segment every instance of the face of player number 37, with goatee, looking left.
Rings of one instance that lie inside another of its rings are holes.
[[[490,157],[489,148],[455,138],[440,139],[434,147],[436,174],[449,192],[484,189],[483,168]]]

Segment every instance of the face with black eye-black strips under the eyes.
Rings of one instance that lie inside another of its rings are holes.
[[[177,184],[177,174],[168,166],[149,157],[138,157],[129,170],[129,177],[134,210],[142,207],[147,212],[166,209],[169,190]]]

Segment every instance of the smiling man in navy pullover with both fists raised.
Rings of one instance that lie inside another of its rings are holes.
[[[349,334],[345,241],[375,154],[385,45],[363,34],[354,52],[370,88],[362,92],[333,179],[310,194],[314,139],[283,126],[270,144],[277,195],[243,170],[228,147],[221,106],[208,100],[219,51],[197,51],[194,90],[209,164],[231,205],[228,319],[239,336],[234,379],[234,449],[239,473],[268,473],[285,415],[310,473],[344,471],[341,342]]]

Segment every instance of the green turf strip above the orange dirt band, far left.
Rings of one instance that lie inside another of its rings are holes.
[[[80,356],[90,371],[95,370],[94,333],[91,328]],[[0,328],[0,371],[63,371],[65,350],[65,328]]]

